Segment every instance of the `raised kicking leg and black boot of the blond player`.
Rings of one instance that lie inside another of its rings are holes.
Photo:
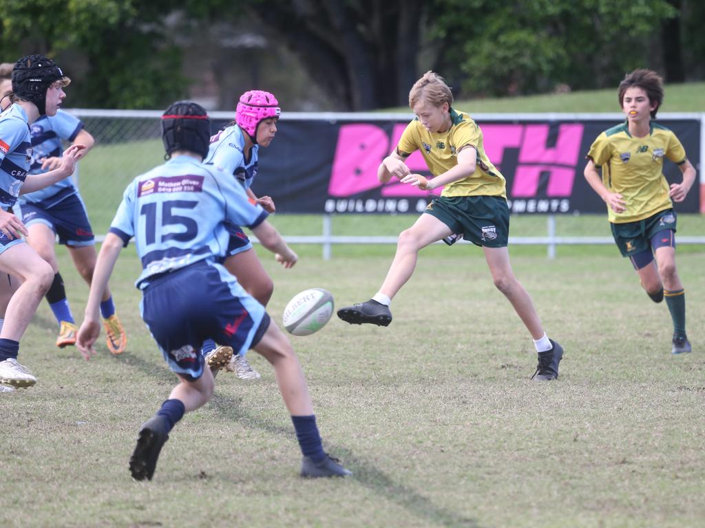
[[[338,310],[338,317],[351,325],[388,326],[392,320],[389,303],[413,275],[419,251],[452,233],[450,227],[438,218],[419,216],[412,227],[400,233],[394,260],[377,294],[364,303],[343,306]]]

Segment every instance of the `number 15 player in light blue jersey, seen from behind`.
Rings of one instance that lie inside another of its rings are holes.
[[[264,306],[220,264],[229,234],[226,222],[266,230],[266,211],[245,191],[202,159],[208,151],[210,121],[196,103],[173,103],[162,116],[168,161],[128,186],[98,256],[77,346],[85,358],[99,334],[99,303],[122,247],[135,237],[142,273],[137,287],[152,337],[179,377],[157,414],[140,429],[130,458],[137,480],[152,479],[161,447],[184,413],[209,401],[214,377],[204,368],[203,341],[216,339],[230,360],[254,348],[274,366],[304,455],[306,477],[350,474],[321,446],[306,379],[291,344],[270,324]]]

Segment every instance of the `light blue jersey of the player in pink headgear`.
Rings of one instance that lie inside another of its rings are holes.
[[[245,162],[245,137],[240,127],[233,125],[214,135],[204,163],[235,176],[245,189],[250,189],[257,176],[258,151],[259,145],[252,146],[250,161]]]

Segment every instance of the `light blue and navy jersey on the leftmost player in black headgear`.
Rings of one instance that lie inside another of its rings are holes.
[[[0,114],[0,207],[15,205],[32,159],[27,114],[12,104]]]

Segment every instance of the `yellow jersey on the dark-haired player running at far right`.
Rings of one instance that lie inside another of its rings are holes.
[[[615,213],[607,207],[610,222],[636,222],[673,207],[663,175],[664,156],[677,165],[686,161],[678,137],[654,122],[646,137],[633,137],[627,123],[623,123],[595,139],[587,157],[602,168],[605,187],[621,194],[626,204],[624,213]]]

